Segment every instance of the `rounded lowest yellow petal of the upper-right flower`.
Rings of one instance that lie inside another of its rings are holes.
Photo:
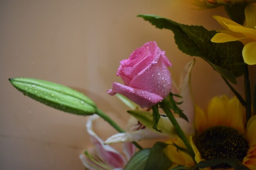
[[[250,42],[243,48],[243,58],[246,64],[256,64],[256,42]]]

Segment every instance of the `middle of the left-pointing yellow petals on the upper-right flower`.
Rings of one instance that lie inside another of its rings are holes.
[[[224,24],[228,27],[229,30],[236,33],[242,33],[243,35],[245,35],[245,37],[256,40],[256,29],[246,28],[244,26],[231,25],[225,22]]]

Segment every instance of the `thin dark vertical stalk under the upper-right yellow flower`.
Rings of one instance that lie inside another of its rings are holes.
[[[252,110],[251,110],[251,88],[250,88],[250,81],[249,81],[249,71],[248,71],[248,65],[245,65],[245,73],[244,73],[244,82],[245,82],[245,99],[246,99],[246,123],[252,116]]]

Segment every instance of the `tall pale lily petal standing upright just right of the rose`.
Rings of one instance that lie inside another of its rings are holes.
[[[190,82],[191,71],[194,64],[195,64],[195,59],[193,59],[191,62],[186,64],[186,66],[183,68],[183,71],[180,75],[180,88],[179,88],[179,95],[182,96],[182,98],[177,98],[177,102],[183,102],[180,105],[180,109],[183,110],[184,114],[189,119],[189,124],[188,124],[183,119],[179,120],[177,118],[177,121],[180,123],[182,130],[184,130],[184,132],[187,135],[194,134],[193,122],[195,117],[195,104],[193,101],[191,82]]]

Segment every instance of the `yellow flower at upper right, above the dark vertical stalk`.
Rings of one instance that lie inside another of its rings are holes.
[[[213,16],[225,30],[213,36],[212,42],[240,41],[245,45],[243,59],[246,64],[256,64],[256,7],[248,4],[245,8],[245,26],[220,16]]]

